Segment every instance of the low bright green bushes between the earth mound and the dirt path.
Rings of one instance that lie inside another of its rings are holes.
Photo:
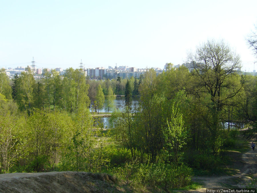
[[[169,191],[171,188],[187,186],[192,177],[192,169],[187,166],[174,167],[170,164],[137,164],[130,162],[113,172],[127,183],[148,187],[151,191],[158,188]]]

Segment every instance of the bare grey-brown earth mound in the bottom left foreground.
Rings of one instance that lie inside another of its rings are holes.
[[[133,192],[115,176],[88,172],[0,174],[0,192]]]

